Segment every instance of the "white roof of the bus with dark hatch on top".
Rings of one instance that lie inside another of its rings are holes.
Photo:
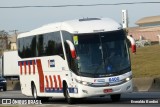
[[[122,29],[122,26],[110,18],[85,18],[51,23],[18,35],[18,38],[39,35],[55,31],[68,31],[72,34],[107,32]]]

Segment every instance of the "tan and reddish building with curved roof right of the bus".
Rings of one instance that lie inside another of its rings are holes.
[[[160,34],[160,16],[144,17],[136,21],[136,24],[138,27],[129,28],[128,35],[136,40],[142,38],[151,42],[159,41],[157,35]]]

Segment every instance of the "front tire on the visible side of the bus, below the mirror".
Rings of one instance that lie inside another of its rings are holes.
[[[64,88],[64,95],[65,95],[65,99],[66,99],[68,104],[74,104],[75,103],[74,98],[71,98],[69,96],[69,90],[68,90],[67,84],[65,85],[65,88]]]

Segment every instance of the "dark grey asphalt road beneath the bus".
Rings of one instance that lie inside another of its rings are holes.
[[[21,94],[20,91],[6,91],[0,92],[0,102],[2,99],[9,98],[26,98],[30,99]],[[25,100],[26,100],[25,99]],[[13,100],[13,99],[12,99]],[[22,99],[24,100],[24,99]],[[42,103],[42,104],[40,104]],[[15,104],[14,106],[16,106]],[[0,105],[2,106],[2,105]],[[3,105],[5,106],[5,105]],[[160,107],[160,92],[133,92],[122,94],[120,102],[112,102],[109,96],[106,97],[91,97],[77,101],[74,105],[68,105],[65,99],[50,99],[47,102],[39,102],[38,105],[27,105],[19,104],[18,107],[29,107],[29,106],[44,106],[44,107]]]

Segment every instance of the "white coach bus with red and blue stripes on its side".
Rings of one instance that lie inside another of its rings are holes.
[[[129,37],[133,47],[134,40]],[[122,26],[109,18],[53,23],[18,35],[21,91],[34,98],[132,92],[132,71]]]

